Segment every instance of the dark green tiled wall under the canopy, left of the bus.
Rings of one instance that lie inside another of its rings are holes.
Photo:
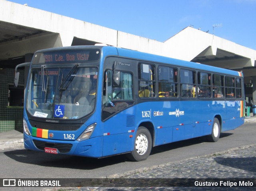
[[[19,72],[19,84],[24,84],[24,71]],[[14,84],[14,69],[4,69],[0,73],[0,132],[22,128],[23,124],[23,108],[7,107],[9,84]]]

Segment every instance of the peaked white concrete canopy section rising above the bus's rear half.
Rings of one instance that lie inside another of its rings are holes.
[[[176,58],[255,74],[256,50],[210,33],[187,27],[164,43]]]

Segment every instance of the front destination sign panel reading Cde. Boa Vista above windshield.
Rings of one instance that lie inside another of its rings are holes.
[[[36,53],[32,64],[79,63],[98,61],[99,57],[100,51],[98,49],[51,51]]]

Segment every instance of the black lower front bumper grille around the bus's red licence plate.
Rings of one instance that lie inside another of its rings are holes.
[[[52,142],[45,142],[45,141],[38,141],[38,140],[33,140],[36,148],[39,150],[43,150],[45,147],[50,147],[50,148],[56,148],[60,153],[68,153],[70,152],[72,148],[72,144],[66,144],[66,143],[52,143]]]

